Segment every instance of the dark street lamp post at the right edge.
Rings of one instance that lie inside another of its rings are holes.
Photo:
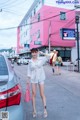
[[[79,16],[76,16],[75,18],[76,22],[76,39],[77,39],[77,58],[78,58],[78,72],[80,72],[80,65],[79,65],[79,30],[78,30],[78,24],[79,24]]]

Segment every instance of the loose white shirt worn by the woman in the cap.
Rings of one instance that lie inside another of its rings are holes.
[[[27,69],[27,76],[31,78],[31,83],[39,83],[45,80],[43,65],[47,60],[47,57],[44,59],[38,58],[36,61],[33,61],[32,59],[30,60]]]

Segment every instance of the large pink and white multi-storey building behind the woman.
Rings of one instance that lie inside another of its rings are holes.
[[[32,23],[30,24],[30,27],[25,26],[26,31],[27,27],[29,27],[29,30],[27,31],[29,36],[28,38],[26,36],[26,44],[30,46],[30,49],[33,47],[37,47],[43,51],[57,49],[64,61],[70,60],[71,50],[75,47],[76,43],[75,11],[51,7],[44,5],[43,3],[41,3],[40,9],[36,10],[35,6],[37,3],[37,1],[33,3],[20,23],[20,26],[24,25],[26,19],[28,19],[29,23]],[[22,27],[18,27],[18,52],[20,47],[24,48],[25,44],[24,39],[21,40],[24,41],[22,44],[20,42],[20,37],[22,35],[21,28]]]

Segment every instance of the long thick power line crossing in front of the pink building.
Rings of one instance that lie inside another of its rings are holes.
[[[75,8],[75,9],[77,9],[77,8]],[[68,10],[66,13],[69,13],[69,12],[71,12],[71,11],[74,11],[75,9]],[[32,25],[32,24],[36,24],[36,23],[39,23],[39,22],[42,22],[42,21],[46,21],[46,20],[49,20],[49,19],[58,17],[58,16],[60,16],[60,15],[61,15],[61,14],[57,14],[57,15],[54,15],[54,16],[51,16],[51,17],[48,17],[48,18],[44,18],[44,19],[42,19],[42,20],[40,20],[40,21],[35,21],[35,22],[28,23],[28,24],[20,25],[20,26],[8,27],[8,28],[1,28],[0,30],[9,30],[9,29],[15,29],[15,28],[23,27],[23,26],[27,26],[27,25]]]

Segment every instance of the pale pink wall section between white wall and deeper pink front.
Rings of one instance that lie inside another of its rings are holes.
[[[33,47],[40,47],[43,45],[43,36],[44,36],[44,31],[43,31],[43,22],[38,22],[38,14],[41,14],[40,19],[43,19],[43,9],[41,8],[37,14],[31,19],[32,27],[30,29],[30,36],[31,36],[31,43],[30,43],[30,48]],[[39,35],[40,31],[40,37]],[[34,42],[41,41],[41,45],[35,45]]]

